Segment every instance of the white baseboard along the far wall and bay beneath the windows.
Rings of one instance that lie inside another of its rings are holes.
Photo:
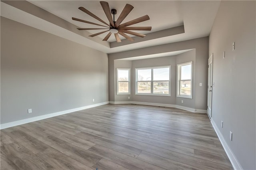
[[[196,113],[206,113],[206,110],[202,109],[193,109],[190,107],[184,107],[180,105],[172,105],[172,104],[163,104],[163,103],[148,103],[148,102],[138,102],[138,101],[109,101],[110,104],[137,104],[137,105],[150,105],[150,106],[161,106],[161,107],[175,107],[178,109],[196,112]]]

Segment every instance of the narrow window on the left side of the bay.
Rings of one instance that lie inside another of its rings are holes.
[[[116,69],[116,94],[130,95],[130,69]]]

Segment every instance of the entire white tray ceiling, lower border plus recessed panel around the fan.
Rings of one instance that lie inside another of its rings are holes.
[[[105,22],[108,22],[100,5],[100,1],[98,0],[32,0],[29,2],[66,20],[67,22],[76,25],[77,27],[94,28],[94,25],[88,25],[85,23],[73,21],[71,17],[76,17],[101,24],[96,19],[80,11],[78,9],[78,7],[80,6],[88,9],[96,16],[102,18]],[[134,9],[125,18],[123,23],[147,14],[150,17],[150,20],[133,25],[152,26],[152,30],[143,32],[144,34],[157,31],[157,33],[160,33],[161,30],[173,28],[182,24],[184,24],[185,33],[159,38],[156,37],[155,39],[128,44],[122,44],[121,42],[120,46],[111,48],[110,45],[104,45],[103,43],[101,43],[101,40],[104,38],[104,36],[106,36],[105,34],[97,36],[98,38],[88,38],[87,36],[81,36],[76,34],[75,32],[62,28],[61,26],[55,25],[50,21],[44,20],[43,18],[40,18],[40,16],[34,16],[33,14],[29,14],[21,8],[15,8],[12,6],[12,4],[5,4],[2,1],[1,16],[32,26],[34,28],[38,28],[40,30],[49,32],[62,38],[66,38],[73,42],[81,43],[83,45],[92,47],[106,53],[115,53],[120,51],[128,51],[132,49],[150,47],[154,45],[161,45],[172,42],[180,42],[185,40],[191,40],[194,38],[209,36],[212,24],[214,22],[216,13],[220,5],[220,1],[208,0],[113,0],[107,2],[110,5],[111,9],[115,8],[117,10],[117,15],[115,16],[115,18],[118,18],[125,4],[131,4],[132,6],[134,6]],[[95,32],[92,32],[91,34],[94,33]],[[96,39],[100,40],[100,42],[97,42]],[[109,40],[109,42],[112,41],[115,41],[114,36],[112,36],[112,38],[110,38]]]

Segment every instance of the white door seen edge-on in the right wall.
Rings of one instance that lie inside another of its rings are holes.
[[[208,59],[208,97],[207,97],[207,113],[209,118],[212,118],[212,57]]]

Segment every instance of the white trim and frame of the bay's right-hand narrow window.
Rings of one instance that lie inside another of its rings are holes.
[[[181,69],[181,66],[188,65],[188,64],[191,64],[191,95],[190,96],[179,95],[179,89],[180,89],[180,69]],[[176,92],[176,97],[182,97],[182,98],[188,98],[188,99],[192,99],[193,98],[193,61],[177,64],[177,92]]]

